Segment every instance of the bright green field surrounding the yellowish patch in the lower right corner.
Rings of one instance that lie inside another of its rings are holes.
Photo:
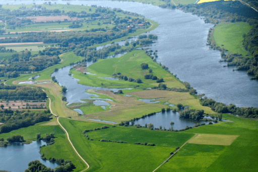
[[[258,153],[257,121],[228,114],[223,114],[223,118],[231,122],[205,125],[183,132],[239,135],[232,144],[186,144],[157,171],[257,171],[258,167],[254,163]]]

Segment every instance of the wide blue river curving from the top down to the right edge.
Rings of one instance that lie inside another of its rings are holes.
[[[0,4],[42,4],[43,1],[0,1]],[[68,1],[53,1],[67,4]],[[159,23],[152,34],[158,40],[151,48],[158,50],[157,62],[165,64],[182,81],[187,81],[198,94],[225,104],[258,107],[258,81],[249,80],[246,72],[232,71],[219,63],[220,52],[209,50],[207,34],[212,24],[181,10],[162,9],[152,5],[116,1],[69,1],[74,5],[97,5],[135,12]]]

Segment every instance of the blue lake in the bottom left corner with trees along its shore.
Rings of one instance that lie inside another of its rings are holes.
[[[50,168],[57,167],[56,163],[40,158],[39,146],[44,144],[46,143],[41,140],[30,144],[13,143],[7,147],[0,147],[0,169],[21,172],[28,168],[28,163],[32,160],[39,160]]]

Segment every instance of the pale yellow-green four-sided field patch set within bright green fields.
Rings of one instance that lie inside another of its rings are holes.
[[[211,144],[211,145],[230,145],[238,136],[237,135],[220,135],[220,134],[198,134],[188,141],[193,144]]]

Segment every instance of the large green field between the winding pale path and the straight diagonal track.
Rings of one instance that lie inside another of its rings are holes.
[[[160,145],[171,145],[171,142],[174,141],[177,142],[174,145],[180,145],[192,136],[180,135],[180,133],[176,133],[174,135],[173,133],[168,132],[112,127],[109,129],[93,131],[92,133],[94,133],[96,138],[101,138],[103,137],[101,136],[102,131],[108,132],[104,134],[109,135],[110,133],[110,138],[112,137],[113,139],[118,140],[127,138],[128,143],[100,142],[95,139],[87,140],[84,134],[82,134],[82,131],[89,128],[101,127],[103,124],[73,121],[64,118],[59,119],[59,121],[65,128],[68,129],[71,141],[73,142],[74,146],[82,155],[82,157],[89,163],[89,171],[152,171],[169,156],[169,152],[175,149],[174,146],[166,147],[132,144],[131,142],[134,142],[134,139],[139,141],[144,140],[141,138],[138,132],[145,136],[146,141],[149,140],[155,142],[156,137],[157,142],[160,142]],[[117,136],[115,136],[115,133],[117,133]],[[123,136],[121,133],[124,133],[125,135]],[[153,134],[151,133],[153,133],[155,137],[152,137]],[[91,133],[89,132],[87,134],[90,135]],[[138,137],[139,139],[134,137]],[[92,136],[92,138],[94,137]]]

